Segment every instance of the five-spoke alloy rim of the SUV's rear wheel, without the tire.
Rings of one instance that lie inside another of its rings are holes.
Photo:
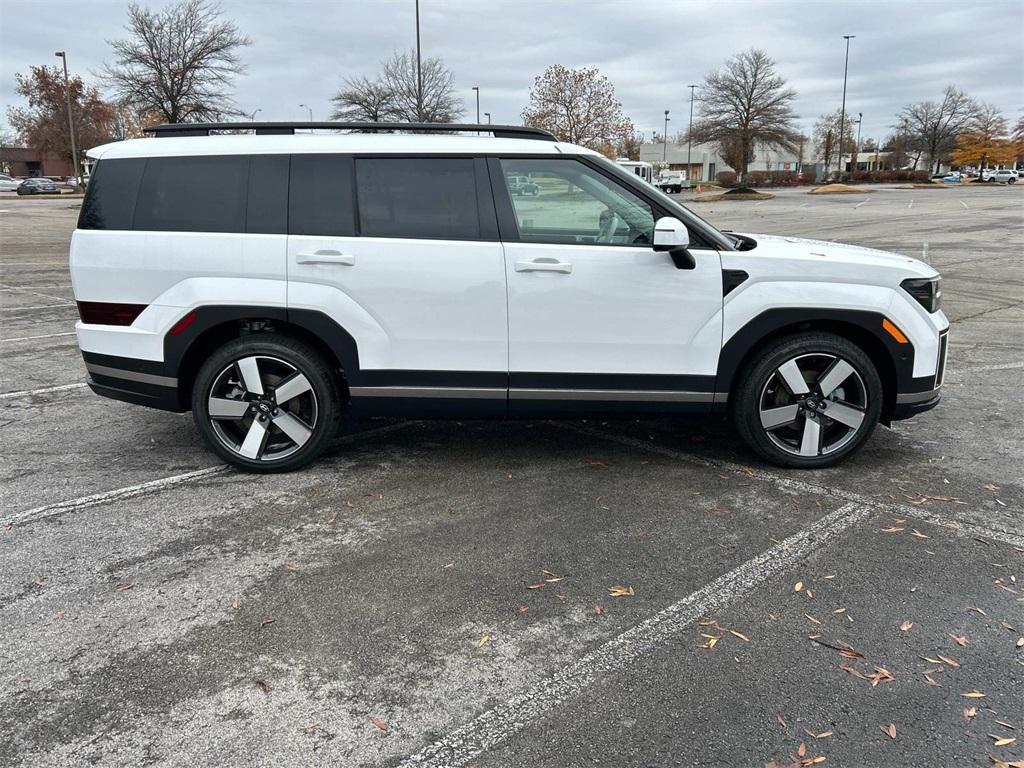
[[[274,462],[299,451],[316,428],[316,394],[291,362],[240,357],[213,380],[207,400],[217,439],[249,461]]]

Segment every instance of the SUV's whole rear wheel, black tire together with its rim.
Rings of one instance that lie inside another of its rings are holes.
[[[246,384],[240,361],[255,371],[253,386]],[[299,376],[305,381],[295,384]],[[300,391],[279,402],[278,387],[284,390],[292,379],[292,389]],[[191,397],[193,418],[207,445],[246,472],[287,472],[314,461],[337,434],[343,410],[338,374],[324,355],[303,341],[269,333],[232,339],[217,349],[197,374]],[[211,404],[231,413],[211,416]],[[254,438],[244,451],[250,432],[261,432],[262,441],[253,451]]]

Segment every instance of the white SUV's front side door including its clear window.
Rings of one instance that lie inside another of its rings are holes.
[[[573,158],[506,158],[493,175],[499,167],[538,189],[497,200],[508,207],[511,411],[708,408],[722,342],[718,252],[697,247],[696,267],[680,269],[652,250],[659,212],[610,171]]]

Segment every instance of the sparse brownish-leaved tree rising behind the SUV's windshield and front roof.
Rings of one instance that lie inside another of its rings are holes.
[[[595,67],[570,70],[554,65],[545,70],[529,89],[522,122],[606,154],[636,132],[623,115],[614,86]]]

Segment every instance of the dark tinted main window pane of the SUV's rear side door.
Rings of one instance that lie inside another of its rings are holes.
[[[472,158],[357,158],[359,233],[480,240]]]

